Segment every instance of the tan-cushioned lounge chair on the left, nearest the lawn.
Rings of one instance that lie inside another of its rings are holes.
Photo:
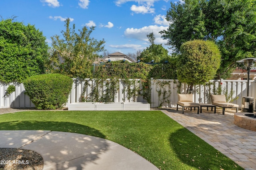
[[[192,107],[197,107],[197,114],[199,114],[199,107],[200,104],[193,102],[193,94],[178,94],[179,100],[177,102],[177,110],[178,106],[182,107],[182,114],[184,114],[184,108],[190,107],[190,111],[192,110]]]

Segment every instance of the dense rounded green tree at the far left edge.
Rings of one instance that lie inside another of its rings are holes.
[[[0,21],[0,80],[22,80],[45,72],[46,37],[34,25],[11,19]]]

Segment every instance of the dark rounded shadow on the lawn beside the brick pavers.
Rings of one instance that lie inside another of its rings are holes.
[[[183,128],[169,137],[170,147],[176,153],[181,164],[202,170],[236,169],[243,170],[233,160],[214,149],[211,145]]]

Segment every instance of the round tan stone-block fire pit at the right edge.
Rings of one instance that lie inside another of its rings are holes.
[[[244,129],[256,131],[256,116],[247,112],[235,113],[234,124]]]

